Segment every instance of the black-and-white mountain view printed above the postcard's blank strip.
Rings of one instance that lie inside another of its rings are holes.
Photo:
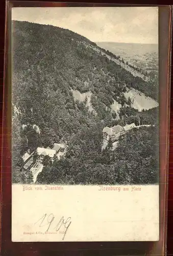
[[[12,9],[12,183],[159,184],[157,7]]]

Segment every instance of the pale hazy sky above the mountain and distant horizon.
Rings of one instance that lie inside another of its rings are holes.
[[[95,42],[158,44],[157,7],[15,7],[12,19],[69,29]]]

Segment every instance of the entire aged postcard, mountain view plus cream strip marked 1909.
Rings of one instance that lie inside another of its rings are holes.
[[[157,7],[12,9],[13,242],[159,240],[158,72]]]

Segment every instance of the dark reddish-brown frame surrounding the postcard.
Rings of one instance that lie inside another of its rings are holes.
[[[13,4],[13,5],[12,5]],[[49,2],[8,2],[6,30],[10,30],[10,8],[12,6],[69,6],[67,3]],[[81,6],[80,3],[75,4]],[[86,4],[82,4],[85,6]],[[94,4],[98,6],[103,4]],[[87,4],[93,6],[93,4]],[[106,4],[105,4],[106,6]],[[116,5],[117,6],[117,5]],[[159,242],[48,242],[48,243],[13,243],[11,242],[11,58],[10,33],[6,33],[5,87],[3,111],[3,155],[2,155],[2,255],[165,255],[166,222],[167,222],[167,183],[168,183],[168,141],[169,141],[169,95],[170,95],[170,27],[171,11],[161,7],[159,29],[162,36],[160,50],[160,241]],[[164,32],[163,32],[164,30]],[[169,37],[168,37],[169,35]],[[166,141],[166,143],[165,143]],[[163,218],[164,216],[164,218]]]

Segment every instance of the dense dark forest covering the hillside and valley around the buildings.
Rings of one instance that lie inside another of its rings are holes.
[[[54,142],[68,144],[66,156],[45,164],[38,183],[157,182],[158,108],[138,112],[124,93],[134,88],[157,100],[158,87],[94,51],[93,42],[72,31],[13,21],[12,33],[13,182],[32,182],[32,175],[22,169],[24,152]],[[93,111],[87,99],[75,100],[72,90],[91,92]],[[111,109],[114,100],[121,104],[118,113]],[[155,126],[130,131],[119,139],[116,151],[111,141],[102,151],[106,125],[132,122]]]

